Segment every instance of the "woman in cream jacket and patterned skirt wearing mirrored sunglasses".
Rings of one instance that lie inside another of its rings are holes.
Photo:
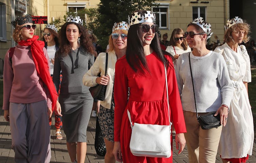
[[[93,87],[97,84],[108,85],[105,95],[105,100],[100,101],[99,107],[99,125],[104,136],[107,153],[105,155],[105,163],[115,163],[113,155],[114,147],[114,77],[115,77],[115,63],[118,59],[123,57],[127,46],[127,33],[129,25],[122,21],[116,22],[112,29],[112,34],[109,36],[108,53],[108,69],[107,76],[105,76],[106,53],[100,53],[96,58],[93,66],[84,75],[84,85]],[[97,75],[100,73],[100,77]]]

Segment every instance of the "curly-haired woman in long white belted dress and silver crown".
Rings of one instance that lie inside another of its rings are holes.
[[[234,95],[227,126],[222,129],[219,153],[223,163],[241,163],[252,155],[254,141],[253,115],[248,97],[248,83],[252,81],[250,57],[245,46],[239,46],[249,41],[250,25],[235,17],[227,21],[225,30],[226,43],[215,51],[221,53],[226,61]]]

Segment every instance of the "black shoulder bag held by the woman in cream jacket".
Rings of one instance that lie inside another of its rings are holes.
[[[107,67],[108,67],[108,53],[106,53],[105,76],[107,75]],[[91,92],[91,95],[94,99],[104,101],[105,94],[106,94],[106,88],[107,88],[107,86],[98,84],[94,87],[89,88],[89,91]]]

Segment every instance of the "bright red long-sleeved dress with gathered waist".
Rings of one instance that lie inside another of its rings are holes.
[[[172,65],[171,58],[166,57]],[[130,152],[131,126],[127,109],[131,113],[133,123],[169,124],[164,65],[154,52],[147,55],[146,60],[150,71],[148,75],[136,74],[127,63],[125,56],[116,62],[114,141],[120,141],[124,163],[171,163],[172,156],[170,158],[139,157]],[[174,68],[168,68],[167,80],[171,122],[176,133],[185,133],[186,127]],[[127,102],[128,87],[130,97]]]

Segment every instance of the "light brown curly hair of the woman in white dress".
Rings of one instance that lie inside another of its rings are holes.
[[[250,37],[248,36],[248,33],[250,32],[250,25],[245,22],[234,24],[230,28],[228,28],[224,34],[224,41],[227,43],[234,42],[231,34],[232,32],[236,32],[239,30],[244,30],[243,42],[248,42],[250,40]]]

